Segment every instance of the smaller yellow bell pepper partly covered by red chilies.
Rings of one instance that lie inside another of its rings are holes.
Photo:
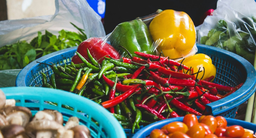
[[[179,61],[181,62],[181,61]],[[202,80],[205,80],[206,78],[210,76],[216,75],[216,67],[212,64],[211,58],[208,55],[205,54],[195,54],[190,57],[187,57],[183,60],[182,64],[194,68],[194,73],[198,72],[200,67],[200,72],[197,76],[198,79],[202,78],[203,75],[203,67],[204,67],[204,75]],[[214,79],[213,78],[213,79]],[[212,80],[213,80],[212,79]]]

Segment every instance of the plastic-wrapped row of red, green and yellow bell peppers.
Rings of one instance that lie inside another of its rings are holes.
[[[151,15],[120,23],[105,37],[83,41],[77,52],[88,58],[88,48],[100,63],[104,56],[120,60],[124,60],[123,57],[141,58],[137,52],[161,54],[180,61],[197,52],[195,40],[194,24],[185,12],[157,10]],[[77,55],[72,61],[75,64],[82,63]]]

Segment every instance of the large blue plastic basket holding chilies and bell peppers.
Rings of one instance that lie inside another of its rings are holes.
[[[57,65],[69,64],[72,56],[74,55],[77,47],[71,47],[60,50],[44,57],[41,57],[21,70],[16,78],[16,86],[36,86],[42,85],[41,72],[49,74],[53,73],[52,69],[39,62],[53,62]],[[216,77],[214,83],[226,86],[236,86],[244,82],[243,86],[235,93],[207,104],[206,108],[212,111],[214,116],[221,115],[227,118],[234,118],[238,106],[245,102],[256,90],[256,71],[253,66],[244,58],[223,50],[220,48],[197,44],[198,52],[209,55],[212,63],[216,66]],[[49,80],[49,77],[47,77]],[[127,137],[131,137],[131,129],[125,129]]]

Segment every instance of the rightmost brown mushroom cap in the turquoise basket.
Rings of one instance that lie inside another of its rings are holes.
[[[74,126],[70,128],[70,130],[74,131],[74,138],[90,138],[91,137],[90,130],[84,125]]]

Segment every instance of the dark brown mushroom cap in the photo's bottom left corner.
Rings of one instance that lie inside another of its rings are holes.
[[[25,133],[24,127],[21,125],[10,124],[1,128],[4,138],[13,138]]]

